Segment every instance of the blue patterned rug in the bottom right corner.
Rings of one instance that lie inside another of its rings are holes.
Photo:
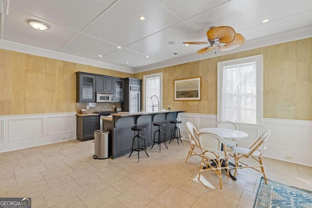
[[[254,208],[312,208],[312,192],[261,178]]]

